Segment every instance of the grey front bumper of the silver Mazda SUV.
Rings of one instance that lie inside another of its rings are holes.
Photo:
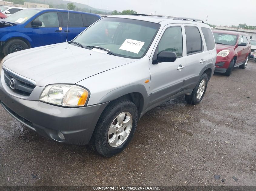
[[[8,94],[0,80],[0,104],[20,123],[58,142],[86,145],[108,103],[65,108],[40,101],[24,100]],[[62,136],[59,136],[61,132]]]

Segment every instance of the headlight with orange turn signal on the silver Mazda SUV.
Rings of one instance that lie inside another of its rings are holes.
[[[77,85],[53,84],[45,87],[39,100],[65,107],[84,106],[89,92]]]

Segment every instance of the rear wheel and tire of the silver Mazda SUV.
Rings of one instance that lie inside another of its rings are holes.
[[[201,83],[204,81],[204,88],[201,88]],[[192,94],[191,95],[185,95],[185,100],[187,101],[188,104],[191,105],[197,105],[198,103],[201,102],[201,100],[204,97],[204,94],[206,92],[207,89],[207,84],[208,84],[208,75],[206,73],[203,73],[203,75],[201,76],[200,80],[198,81],[198,83],[196,84],[196,87],[193,89]],[[200,86],[200,87],[199,87]],[[201,90],[201,96],[198,98],[198,91]],[[203,92],[202,92],[203,90]]]

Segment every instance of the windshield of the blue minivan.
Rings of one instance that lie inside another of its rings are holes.
[[[23,9],[21,11],[18,11],[12,15],[10,15],[9,17],[5,18],[6,22],[10,22],[10,23],[25,23],[26,21],[28,21],[28,19],[30,19],[31,17],[33,17],[35,14],[39,13],[42,10],[36,10],[36,9]]]

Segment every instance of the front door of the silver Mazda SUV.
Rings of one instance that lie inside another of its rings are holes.
[[[162,36],[161,36],[162,35]],[[149,63],[150,66],[150,102],[158,103],[161,100],[178,94],[183,85],[186,62],[183,57],[182,26],[171,24],[165,27],[161,33],[152,54],[152,60],[157,58],[162,51],[171,51],[177,54],[175,62]]]

